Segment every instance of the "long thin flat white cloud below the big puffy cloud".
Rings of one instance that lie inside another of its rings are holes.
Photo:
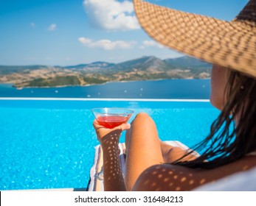
[[[83,46],[91,47],[91,48],[100,48],[105,50],[113,50],[113,49],[131,49],[135,42],[134,41],[111,41],[111,40],[91,40],[89,38],[78,38],[80,43],[83,43]]]

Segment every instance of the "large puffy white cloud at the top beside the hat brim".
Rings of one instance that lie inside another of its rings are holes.
[[[139,29],[131,1],[84,0],[90,23],[100,29],[127,31]]]

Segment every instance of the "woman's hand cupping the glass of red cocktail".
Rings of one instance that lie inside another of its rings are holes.
[[[108,129],[100,125],[97,119],[94,119],[93,126],[97,134],[98,141],[100,141],[100,143],[102,144],[104,140],[108,138],[119,141],[122,131],[130,129],[131,124],[121,124],[120,126],[114,127],[113,129]]]

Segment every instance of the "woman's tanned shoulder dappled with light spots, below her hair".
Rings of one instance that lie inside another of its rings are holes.
[[[213,169],[195,169],[171,164],[159,164],[147,168],[139,176],[134,191],[191,191],[208,182],[245,171],[256,166],[256,156]]]

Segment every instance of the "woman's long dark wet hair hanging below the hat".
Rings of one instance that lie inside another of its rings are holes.
[[[256,150],[256,79],[230,71],[224,95],[226,104],[212,123],[210,135],[192,148],[201,156],[190,161],[181,157],[172,164],[217,168]],[[235,116],[240,117],[236,125]]]

